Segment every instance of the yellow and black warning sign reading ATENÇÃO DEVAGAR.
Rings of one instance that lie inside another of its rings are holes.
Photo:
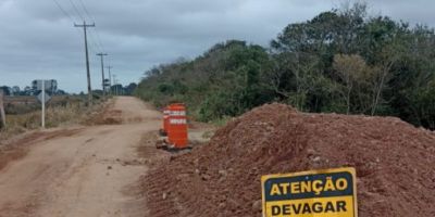
[[[261,177],[263,217],[357,217],[355,168]]]

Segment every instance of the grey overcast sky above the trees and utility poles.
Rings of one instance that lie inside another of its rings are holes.
[[[0,0],[0,86],[57,79],[86,89],[83,29],[89,29],[92,88],[100,88],[98,52],[126,85],[153,65],[192,59],[216,42],[268,46],[287,24],[337,8],[339,0]],[[370,0],[370,12],[435,26],[433,0]]]

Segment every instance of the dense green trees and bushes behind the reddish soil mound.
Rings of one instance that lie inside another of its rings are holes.
[[[366,5],[289,24],[269,48],[229,40],[146,72],[136,94],[210,122],[270,102],[302,112],[397,116],[435,129],[435,34]]]

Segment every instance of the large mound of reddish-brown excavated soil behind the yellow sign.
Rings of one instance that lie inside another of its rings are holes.
[[[169,161],[169,162],[167,162]],[[261,216],[262,175],[357,168],[361,217],[435,216],[435,133],[393,117],[269,104],[144,179],[150,216]]]

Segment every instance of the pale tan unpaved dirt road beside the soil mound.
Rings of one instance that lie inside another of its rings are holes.
[[[132,190],[147,166],[128,162],[137,162],[142,136],[158,130],[160,113],[126,97],[111,110],[122,124],[59,130],[0,170],[0,217],[147,216]]]

